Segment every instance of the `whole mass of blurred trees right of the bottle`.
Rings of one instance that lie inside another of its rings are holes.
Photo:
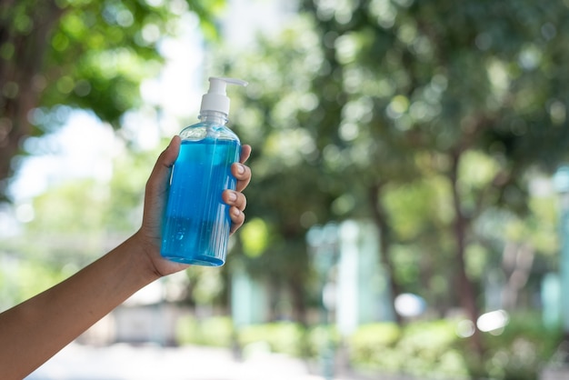
[[[467,267],[484,242],[476,226],[493,212],[527,215],[528,174],[551,173],[567,158],[565,5],[306,1],[301,9],[304,27],[223,64],[252,78],[252,100],[235,116],[245,141],[258,144],[249,194],[259,212],[296,221],[307,210],[313,222],[374,217],[395,292],[398,256],[424,257],[425,284],[442,279],[446,307],[461,305],[475,323],[482,284]],[[267,188],[301,205],[271,200]],[[412,202],[394,207],[405,195]],[[429,214],[411,230],[396,212],[412,206]],[[283,220],[272,231],[290,238]],[[477,334],[473,342],[482,351]]]

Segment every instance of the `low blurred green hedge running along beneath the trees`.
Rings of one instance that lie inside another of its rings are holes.
[[[562,339],[559,330],[540,326],[535,313],[513,316],[504,330],[484,334],[488,348],[482,362],[473,360],[472,347],[456,335],[458,320],[411,322],[406,325],[361,325],[343,341],[330,325],[304,327],[283,322],[250,325],[233,330],[230,319],[179,321],[178,343],[231,347],[246,354],[263,350],[316,360],[325,347],[342,345],[356,373],[411,375],[421,379],[488,378],[534,380],[554,355]]]

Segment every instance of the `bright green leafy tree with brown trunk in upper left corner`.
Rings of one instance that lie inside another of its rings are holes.
[[[188,10],[215,37],[225,2],[5,0],[0,3],[0,198],[26,136],[56,128],[60,105],[92,110],[120,128],[155,75],[159,44]]]

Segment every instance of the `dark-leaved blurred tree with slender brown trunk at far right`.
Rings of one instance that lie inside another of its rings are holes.
[[[565,55],[563,3],[303,4],[318,20],[329,68],[314,80],[313,88],[327,90],[319,106],[334,115],[332,130],[355,123],[360,131],[351,142],[336,134],[336,145],[348,152],[367,147],[367,165],[377,163],[367,187],[377,196],[370,206],[384,233],[385,184],[423,175],[418,163],[446,178],[454,212],[448,225],[454,289],[475,321],[477,290],[464,258],[476,239],[474,221],[491,206],[526,211],[524,172],[551,170],[566,157],[556,148],[569,137],[558,84],[569,78],[554,68]],[[349,107],[364,102],[372,105],[371,119],[350,120]],[[470,152],[484,152],[496,164],[484,188],[464,188]],[[384,245],[384,255],[389,249]]]

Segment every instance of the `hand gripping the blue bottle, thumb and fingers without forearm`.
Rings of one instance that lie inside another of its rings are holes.
[[[170,275],[189,266],[166,260],[160,255],[162,215],[164,215],[165,210],[170,169],[180,152],[180,144],[180,137],[174,136],[165,151],[158,156],[155,167],[146,183],[143,223],[135,236],[140,239],[145,254],[150,259],[151,270],[158,276]],[[251,169],[244,165],[249,155],[251,155],[251,146],[243,145],[239,163],[231,166],[231,173],[237,179],[235,191],[225,190],[222,195],[224,202],[230,206],[231,234],[235,233],[245,222],[244,210],[247,201],[242,191],[251,181]]]

